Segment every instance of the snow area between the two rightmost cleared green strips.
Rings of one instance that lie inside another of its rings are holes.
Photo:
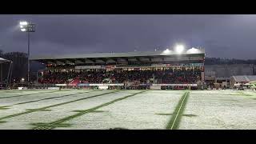
[[[58,129],[165,129],[169,114],[184,94],[183,91],[172,93],[174,91],[150,90],[98,109],[102,113],[74,118],[68,122],[73,124],[71,127]]]

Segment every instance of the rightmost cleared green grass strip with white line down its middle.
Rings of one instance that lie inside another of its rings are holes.
[[[182,98],[179,100],[178,105],[176,106],[170,121],[167,123],[166,129],[175,130],[178,129],[178,125],[181,121],[183,111],[185,110],[187,99],[190,95],[190,92],[185,92],[182,95]]]

